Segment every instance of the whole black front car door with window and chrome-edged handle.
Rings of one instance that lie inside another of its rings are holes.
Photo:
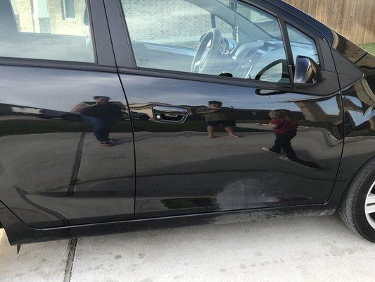
[[[341,97],[319,32],[262,1],[105,3],[134,130],[136,218],[329,198]],[[293,85],[298,55],[322,82]]]

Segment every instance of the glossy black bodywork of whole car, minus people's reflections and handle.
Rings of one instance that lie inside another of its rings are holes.
[[[374,56],[284,1],[245,2],[317,40],[326,79],[315,88],[135,69],[117,1],[89,2],[95,65],[0,58],[0,221],[12,245],[330,214],[374,157]],[[115,147],[98,146],[72,111],[101,95],[123,105]],[[221,130],[206,137],[197,109],[210,100],[230,111],[241,138]],[[178,106],[189,116],[160,123],[154,106]],[[262,151],[274,142],[265,125],[273,110],[298,119],[292,146],[319,168]]]

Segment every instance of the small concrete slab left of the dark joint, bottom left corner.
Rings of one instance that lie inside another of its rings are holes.
[[[0,281],[63,282],[68,240],[23,245],[20,255],[0,230]]]

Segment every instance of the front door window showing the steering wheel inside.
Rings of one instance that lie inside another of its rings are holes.
[[[265,11],[236,0],[121,3],[138,67],[290,83],[279,21]]]

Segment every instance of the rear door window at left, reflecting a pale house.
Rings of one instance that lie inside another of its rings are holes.
[[[5,1],[0,56],[94,63],[86,0]]]

